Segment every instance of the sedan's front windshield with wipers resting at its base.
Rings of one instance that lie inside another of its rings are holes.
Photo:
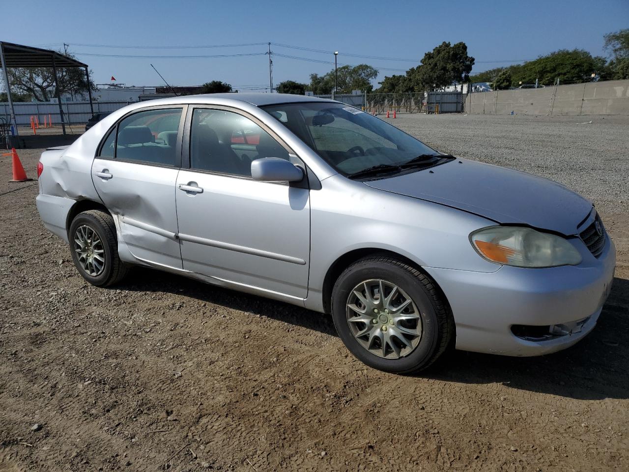
[[[284,123],[322,159],[345,176],[365,171],[402,171],[411,161],[441,155],[375,116],[342,103],[289,103],[262,107]]]

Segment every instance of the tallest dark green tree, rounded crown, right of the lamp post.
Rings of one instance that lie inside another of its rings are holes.
[[[406,75],[416,92],[431,87],[445,87],[455,82],[469,81],[474,58],[467,55],[467,45],[459,42],[450,45],[443,42],[432,51],[426,52],[421,65],[409,69]]]

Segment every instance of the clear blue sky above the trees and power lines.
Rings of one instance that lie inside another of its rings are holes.
[[[18,6],[19,5],[19,6]],[[6,6],[3,10],[6,12]],[[9,6],[0,40],[69,50],[90,65],[94,81],[111,76],[127,85],[160,85],[155,65],[171,85],[214,79],[233,86],[267,86],[267,55],[203,59],[127,59],[101,55],[228,55],[264,53],[266,45],[225,48],[111,48],[87,45],[183,47],[274,42],[274,53],[333,62],[403,69],[414,62],[360,59],[343,53],[421,59],[443,41],[467,44],[473,72],[513,64],[560,48],[603,55],[603,35],[629,27],[629,0],[572,1],[38,1]],[[19,21],[24,18],[26,21]],[[309,81],[333,64],[274,55],[274,83]],[[494,61],[494,62],[491,62]],[[385,75],[403,71],[382,70]]]

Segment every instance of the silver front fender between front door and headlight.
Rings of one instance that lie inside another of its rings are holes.
[[[311,251],[308,308],[323,311],[323,284],[328,269],[356,249],[387,250],[417,266],[493,273],[496,264],[472,248],[469,234],[496,224],[487,218],[370,188],[342,176],[311,191]]]

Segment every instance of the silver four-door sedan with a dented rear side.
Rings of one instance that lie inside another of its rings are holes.
[[[38,173],[42,221],[89,283],[140,265],[331,313],[385,371],[453,346],[564,349],[594,328],[613,279],[591,201],[336,101],[133,104],[44,152]]]

